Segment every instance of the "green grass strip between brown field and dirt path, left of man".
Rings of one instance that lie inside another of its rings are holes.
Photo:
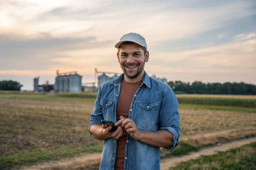
[[[35,149],[32,151],[24,150],[13,155],[0,156],[0,169],[10,169],[20,165],[32,165],[49,160],[60,160],[61,158],[71,158],[81,153],[101,152],[103,144],[95,146],[83,146],[77,148],[61,147],[55,149]]]

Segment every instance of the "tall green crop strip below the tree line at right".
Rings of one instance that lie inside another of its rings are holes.
[[[246,98],[177,96],[177,100],[180,104],[256,107],[256,99],[246,99]]]

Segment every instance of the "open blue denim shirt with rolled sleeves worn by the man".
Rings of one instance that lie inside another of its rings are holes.
[[[101,120],[116,122],[115,108],[123,76],[109,80],[100,87],[91,114],[89,132],[92,125],[101,125]],[[181,128],[177,98],[169,85],[149,77],[146,72],[133,96],[129,118],[139,130],[167,130],[171,133],[172,146],[164,148],[171,149],[178,145]],[[105,140],[100,170],[114,170],[116,141],[114,138]],[[127,134],[124,170],[160,170],[160,148],[134,140]]]

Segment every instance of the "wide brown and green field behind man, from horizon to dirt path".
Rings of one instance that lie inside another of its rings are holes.
[[[0,169],[101,152],[103,142],[88,132],[95,96],[0,91]],[[256,135],[255,96],[177,95],[177,99],[179,147],[161,148],[162,158]],[[88,169],[78,169],[82,168]]]

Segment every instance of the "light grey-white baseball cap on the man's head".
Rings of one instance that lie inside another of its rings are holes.
[[[141,45],[142,47],[145,47],[147,49],[146,40],[140,34],[130,32],[128,34],[123,35],[120,38],[120,41],[115,45],[115,47],[119,48],[120,45],[125,41],[135,42],[136,44]]]

